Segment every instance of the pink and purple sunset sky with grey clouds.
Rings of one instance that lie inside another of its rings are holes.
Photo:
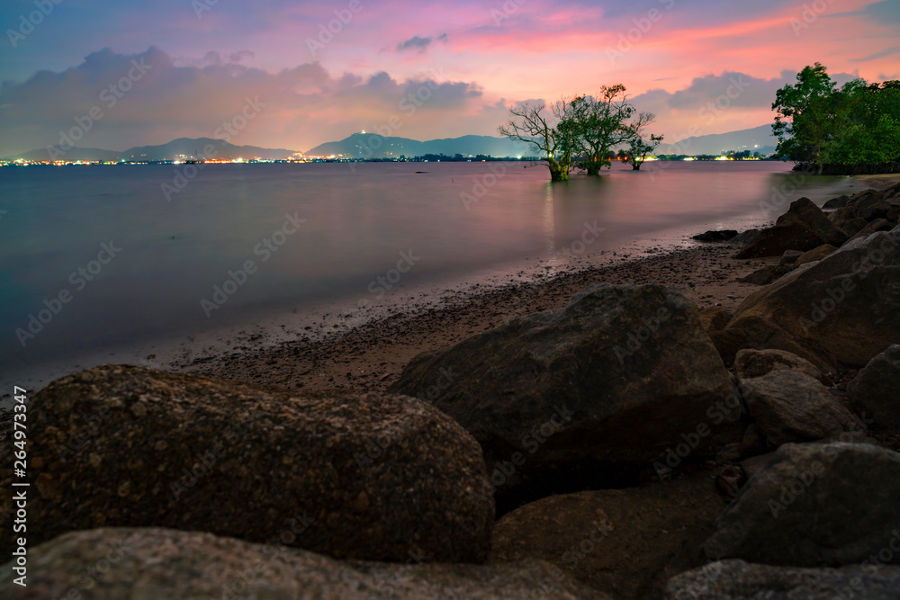
[[[0,25],[0,157],[226,124],[298,151],[498,135],[510,106],[615,84],[674,142],[770,123],[816,61],[900,79],[900,0],[4,0]]]

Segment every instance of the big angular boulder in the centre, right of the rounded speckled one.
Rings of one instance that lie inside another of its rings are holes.
[[[656,284],[591,286],[560,309],[419,354],[391,390],[434,398],[473,434],[492,470],[487,492],[531,494],[515,506],[547,495],[541,485],[612,487],[606,478],[645,470],[698,425],[707,445],[710,411],[724,411],[716,423],[740,416],[694,304]]]

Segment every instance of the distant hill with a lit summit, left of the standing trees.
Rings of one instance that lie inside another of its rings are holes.
[[[490,155],[491,157],[532,156],[526,144],[507,138],[463,136],[462,138],[418,139],[383,137],[374,133],[354,133],[349,138],[320,144],[306,152],[310,157],[343,155],[355,158],[420,157],[426,154]]]

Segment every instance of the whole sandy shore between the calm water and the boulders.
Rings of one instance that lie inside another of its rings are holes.
[[[830,193],[805,192],[819,203],[833,193],[851,193],[851,188],[894,183],[896,176],[891,175],[857,176],[846,178]],[[785,210],[788,203],[784,202]],[[391,297],[362,310],[356,309],[355,302],[365,294],[322,301],[300,311],[285,306],[196,334],[159,336],[54,359],[20,372],[8,382],[33,392],[71,372],[121,363],[286,390],[384,390],[415,354],[456,344],[510,318],[563,306],[591,283],[666,282],[689,291],[699,308],[710,306],[711,301],[734,308],[759,287],[734,279],[773,264],[773,260],[734,261],[730,256],[736,246],[696,242],[690,236],[707,229],[762,228],[775,216],[751,212],[720,220],[710,215],[689,228],[662,229],[615,248],[597,248],[582,255],[533,255],[467,275],[402,286]],[[707,257],[705,253],[713,254]],[[707,276],[694,281],[695,275],[709,267],[694,263],[707,258],[724,261],[716,269],[729,273],[727,279]],[[720,290],[720,284],[725,288]],[[703,286],[704,294],[693,293]],[[538,300],[538,293],[545,297]],[[713,300],[707,301],[706,296]],[[10,401],[8,394],[0,397],[0,409]]]

